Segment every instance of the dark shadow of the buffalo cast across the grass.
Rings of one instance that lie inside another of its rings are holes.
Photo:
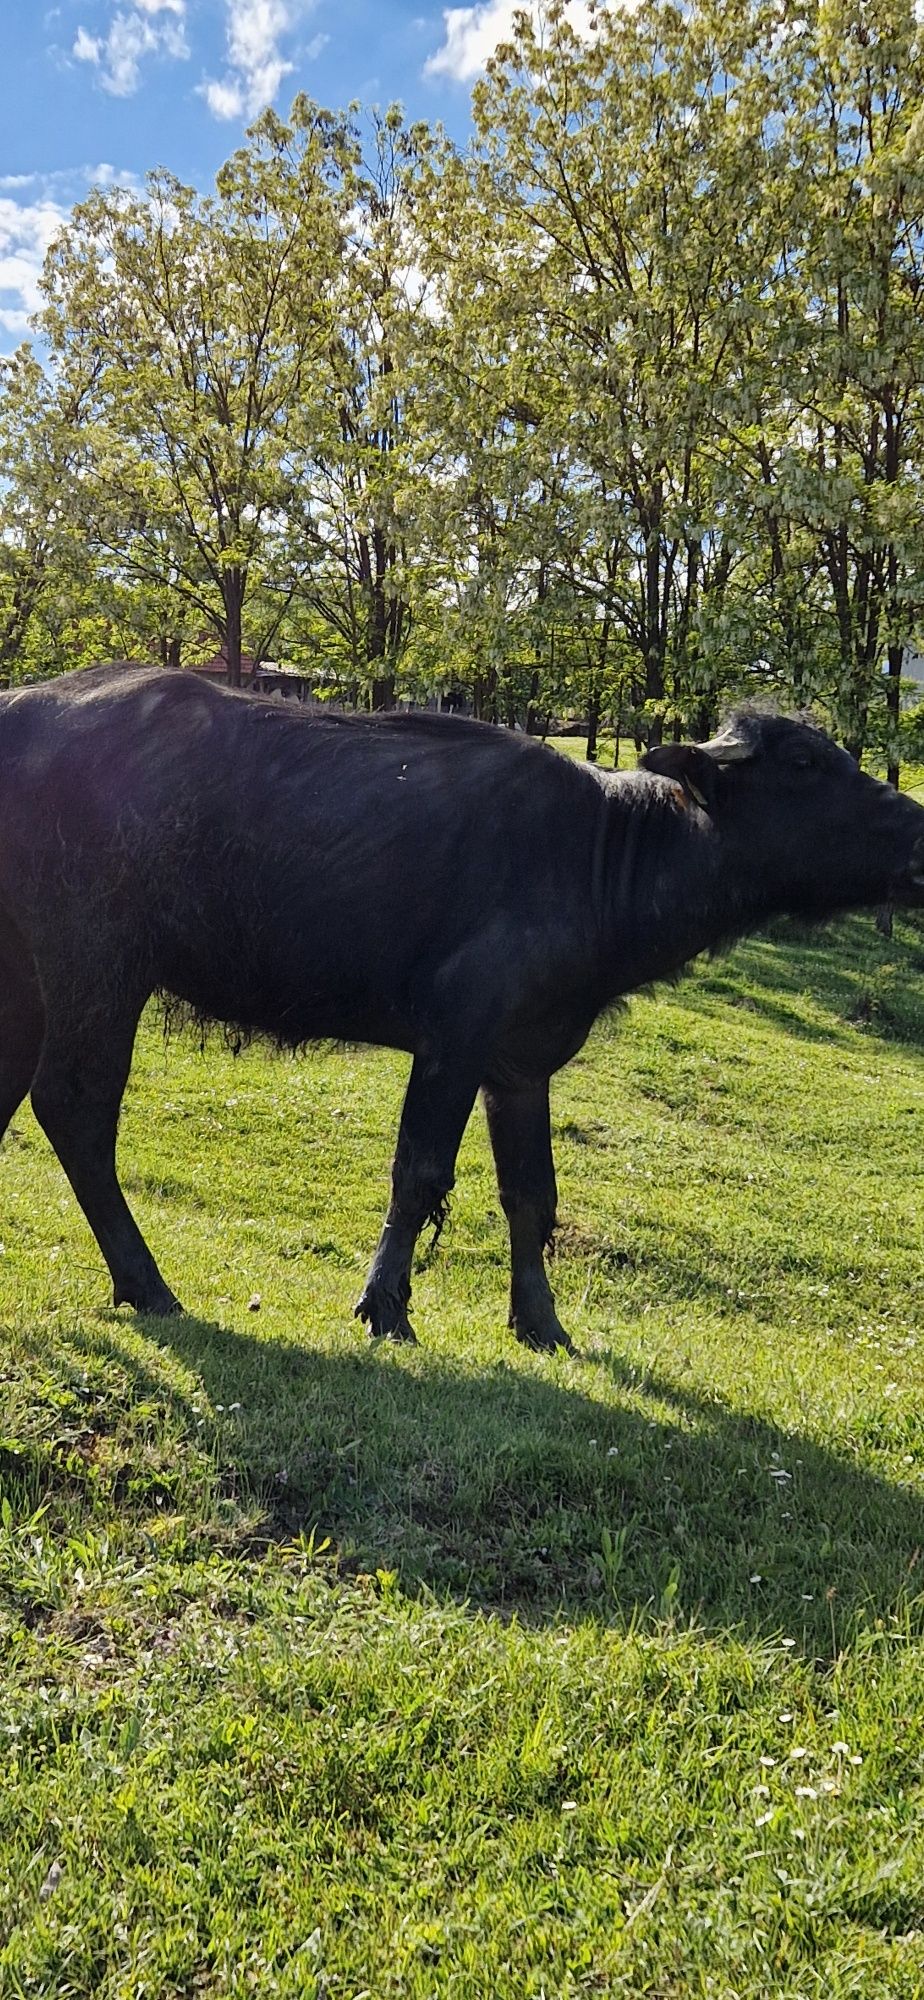
[[[82,1340],[198,1442],[206,1392],[214,1506],[254,1560],[314,1532],[406,1592],[528,1622],[670,1614],[822,1660],[860,1624],[924,1628],[924,1496],[614,1352],[472,1370],[116,1314]]]

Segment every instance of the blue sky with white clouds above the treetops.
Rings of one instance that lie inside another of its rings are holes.
[[[462,136],[516,0],[2,0],[0,352],[28,334],[46,244],[94,180],[206,188],[264,104],[400,98]]]

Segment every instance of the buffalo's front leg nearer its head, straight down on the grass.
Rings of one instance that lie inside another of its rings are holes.
[[[574,1346],[558,1320],[542,1252],[556,1226],[556,1170],[548,1114],[548,1084],[484,1090],[488,1132],[498,1172],[500,1206],[510,1228],[510,1318],[528,1348]]]

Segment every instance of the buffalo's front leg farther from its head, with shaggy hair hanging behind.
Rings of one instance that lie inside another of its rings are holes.
[[[464,1062],[414,1056],[392,1164],[392,1200],[356,1318],[374,1338],[416,1340],[408,1318],[414,1246],[446,1214],[456,1154],[478,1094],[478,1074]]]

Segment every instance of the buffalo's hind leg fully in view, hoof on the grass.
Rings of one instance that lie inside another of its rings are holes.
[[[164,1284],[116,1176],[116,1128],[132,1064],[140,1008],[130,1014],[78,1012],[66,1022],[48,1010],[42,1058],[32,1084],[32,1110],[74,1188],[112,1274],[116,1306],[138,1312],[182,1312]],[[78,1028],[74,1028],[78,1018]]]

